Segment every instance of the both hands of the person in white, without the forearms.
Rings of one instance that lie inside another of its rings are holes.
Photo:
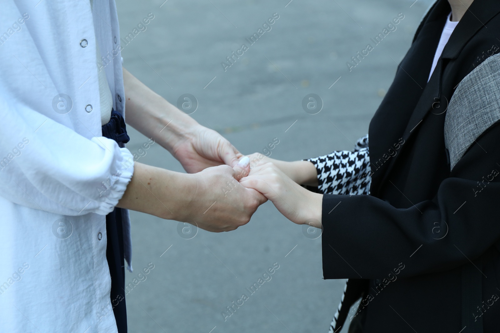
[[[232,144],[199,124],[182,136],[171,152],[184,170],[193,173],[196,190],[188,208],[182,210],[185,216],[175,220],[211,232],[230,231],[248,223],[258,206],[267,201],[258,191],[238,183],[250,170],[248,158],[240,159],[243,155]]]

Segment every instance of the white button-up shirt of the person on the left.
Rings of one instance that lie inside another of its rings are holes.
[[[93,9],[95,31],[88,0],[1,4],[0,332],[116,332],[105,215],[133,158],[101,136],[96,38],[125,99],[114,1]]]

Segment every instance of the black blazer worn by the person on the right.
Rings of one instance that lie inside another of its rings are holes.
[[[323,276],[355,286],[362,332],[460,332],[461,275],[471,262],[484,301],[472,322],[482,320],[484,332],[500,330],[500,300],[491,301],[500,296],[500,177],[474,192],[482,177],[500,170],[500,125],[452,172],[443,135],[454,88],[500,45],[500,1],[472,2],[427,83],[449,12],[446,0],[429,10],[371,120],[370,195],[323,196]]]

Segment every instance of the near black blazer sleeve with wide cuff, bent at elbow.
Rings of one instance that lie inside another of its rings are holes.
[[[450,270],[481,256],[500,238],[499,137],[497,123],[477,139],[432,200],[407,209],[369,195],[324,195],[324,278],[375,279],[399,263],[405,265],[400,276],[408,277]]]

